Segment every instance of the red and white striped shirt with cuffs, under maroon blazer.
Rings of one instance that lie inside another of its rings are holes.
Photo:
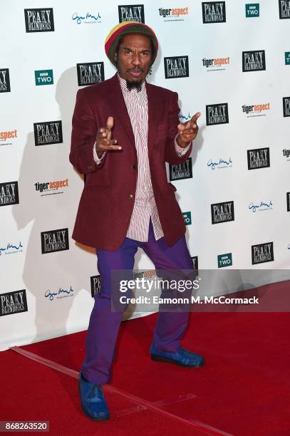
[[[148,158],[147,134],[148,134],[148,102],[145,81],[138,92],[136,88],[128,90],[125,79],[118,75],[120,86],[123,92],[125,105],[133,128],[135,145],[138,157],[138,178],[135,194],[133,213],[128,227],[127,237],[140,242],[148,241],[148,230],[150,218],[154,230],[155,239],[164,236],[160,219],[157,213]],[[184,155],[190,145],[186,148],[180,147],[175,139],[175,148],[178,155]],[[93,147],[93,157],[98,164],[102,157],[98,157]]]

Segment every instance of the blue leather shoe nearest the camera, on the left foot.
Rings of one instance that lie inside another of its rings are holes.
[[[78,389],[81,397],[81,407],[83,411],[95,421],[105,421],[110,417],[108,405],[101,385],[95,385],[83,379],[79,375]]]

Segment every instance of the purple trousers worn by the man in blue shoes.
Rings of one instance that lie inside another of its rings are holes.
[[[118,250],[97,250],[102,290],[95,295],[86,338],[86,357],[81,368],[81,372],[91,383],[103,385],[110,380],[115,343],[123,316],[123,313],[112,311],[111,308],[111,270],[133,270],[138,247],[149,256],[155,269],[193,269],[185,236],[175,245],[167,246],[164,237],[155,240],[151,221],[148,242],[125,238]],[[187,327],[188,316],[188,311],[158,313],[153,341],[160,351],[177,351]]]

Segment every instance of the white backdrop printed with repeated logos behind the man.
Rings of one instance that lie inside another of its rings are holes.
[[[71,239],[83,188],[68,162],[71,117],[78,88],[115,73],[104,40],[120,21],[155,29],[149,81],[179,93],[180,120],[202,112],[192,156],[168,168],[195,264],[260,270],[238,275],[253,286],[287,276],[289,0],[2,3],[1,349],[88,326],[99,280],[93,249]],[[136,268],[151,266],[137,255]]]

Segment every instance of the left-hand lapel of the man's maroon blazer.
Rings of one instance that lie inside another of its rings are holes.
[[[135,147],[134,133],[117,73],[112,78],[108,98],[110,99],[110,105],[114,109],[115,118],[118,118],[120,123],[123,125],[123,128],[125,129],[131,144],[133,145],[133,147]]]

